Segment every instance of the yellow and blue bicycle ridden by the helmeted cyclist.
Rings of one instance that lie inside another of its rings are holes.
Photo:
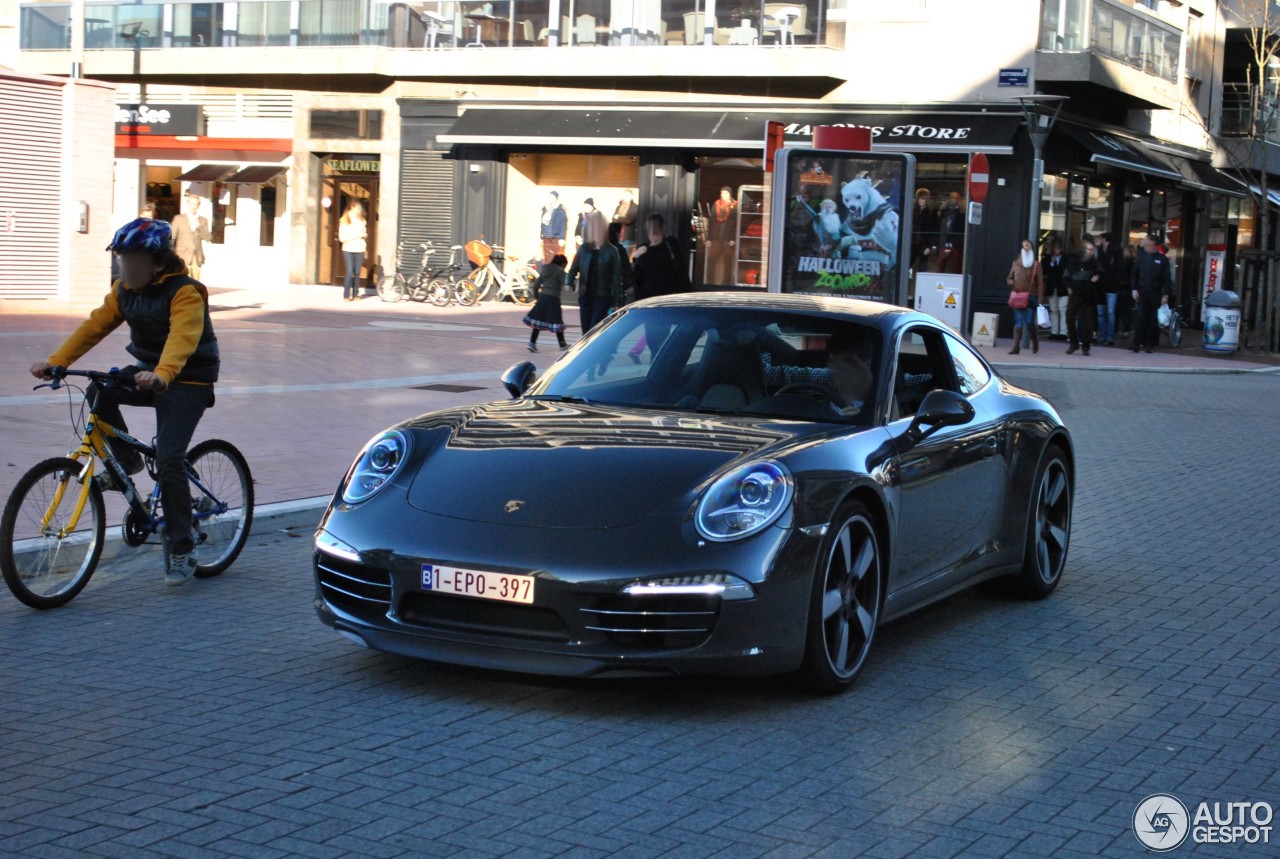
[[[56,608],[84,589],[102,557],[106,507],[102,488],[93,480],[95,460],[122,488],[128,511],[120,538],[140,547],[165,526],[160,485],[143,497],[125,472],[108,439],[142,456],[156,480],[155,447],[115,429],[96,413],[97,393],[105,388],[132,388],[129,370],[68,370],[54,367],[49,383],[33,390],[67,387],[84,399],[76,420],[83,426],[79,447],[65,457],[40,462],[18,480],[0,517],[0,572],[19,600],[32,608]],[[84,389],[68,376],[90,380]],[[87,417],[86,417],[87,410]],[[196,577],[209,579],[227,570],[248,540],[253,522],[253,481],[243,454],[229,442],[206,439],[187,452],[187,478],[192,493],[192,531],[198,547]],[[86,521],[86,512],[88,518]],[[168,562],[168,558],[165,558]]]

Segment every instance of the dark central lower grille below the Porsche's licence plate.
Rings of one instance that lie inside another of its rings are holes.
[[[557,612],[538,606],[415,591],[404,594],[399,600],[398,613],[406,623],[448,632],[559,643],[572,639],[568,626]]]

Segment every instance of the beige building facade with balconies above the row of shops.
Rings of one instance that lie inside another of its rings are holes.
[[[196,104],[205,123],[155,146],[116,136],[119,214],[142,198],[128,177],[168,181],[170,195],[205,183],[196,191],[221,207],[215,246],[234,247],[227,264],[257,241],[270,247],[259,271],[282,284],[340,280],[337,216],[351,200],[370,213],[369,282],[415,266],[424,241],[484,237],[536,257],[556,206],[572,253],[586,207],[626,215],[634,201],[640,218],[666,215],[695,284],[762,288],[767,224],[753,216],[767,210],[771,119],[795,143],[818,124],[856,124],[873,128],[874,149],[915,155],[928,195],[897,201],[919,206],[913,283],[960,278],[974,310],[1007,315],[1005,274],[1029,232],[1068,245],[1155,232],[1193,314],[1204,248],[1248,238],[1245,193],[1215,163],[1228,27],[1211,0],[980,12],[961,0],[83,1],[83,27],[69,26],[69,4],[22,4],[24,65],[79,64],[118,82],[122,106]],[[1032,225],[1016,96],[1037,92],[1069,100]],[[288,102],[270,128],[268,97]],[[215,122],[228,100],[239,113]],[[978,152],[991,189],[970,224]],[[253,186],[244,170],[266,175],[255,168],[283,170]]]

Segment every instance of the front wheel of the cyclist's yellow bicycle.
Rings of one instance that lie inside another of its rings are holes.
[[[22,476],[0,518],[0,571],[19,600],[56,608],[84,589],[102,557],[106,510],[102,490],[76,478],[83,462],[45,460]],[[72,517],[88,492],[79,518]]]

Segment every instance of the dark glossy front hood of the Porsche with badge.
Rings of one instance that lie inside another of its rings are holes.
[[[829,426],[520,399],[402,425],[428,451],[419,510],[530,527],[620,527],[684,513],[736,460],[778,456]],[[415,457],[419,460],[419,457]]]

